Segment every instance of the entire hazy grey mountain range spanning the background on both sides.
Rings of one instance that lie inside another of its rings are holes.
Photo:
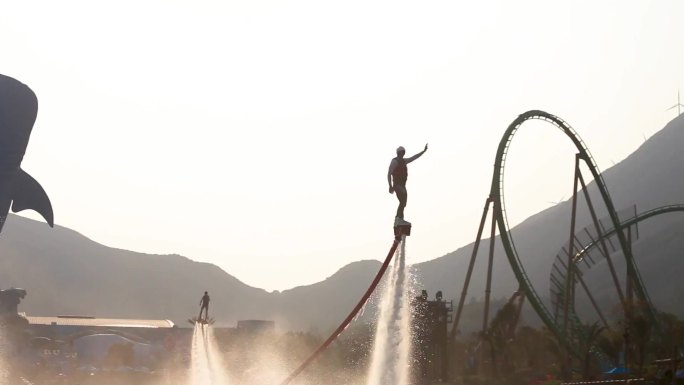
[[[683,144],[684,116],[680,116],[606,170],[604,178],[615,206],[636,204],[639,211],[645,211],[684,203]],[[589,190],[599,216],[604,216],[593,183]],[[483,201],[485,194],[483,191]],[[581,229],[590,218],[583,200],[579,202],[577,228]],[[566,201],[512,230],[528,275],[542,296],[548,295],[553,258],[568,238],[569,212],[570,201]],[[476,226],[473,223],[473,233]],[[641,227],[640,235],[633,249],[651,298],[661,309],[684,316],[684,309],[676,306],[677,299],[684,296],[680,278],[684,276],[684,214],[653,219]],[[501,298],[509,296],[517,282],[499,244],[497,249],[492,294]],[[418,281],[431,294],[442,290],[446,298],[457,299],[471,251],[472,244],[415,265]],[[486,252],[487,247],[482,247],[469,298],[484,295]],[[212,264],[179,255],[114,249],[73,230],[50,229],[18,216],[8,219],[0,239],[0,287],[27,289],[21,311],[31,315],[162,318],[182,325],[197,316],[201,293],[208,290],[212,294],[210,315],[221,324],[258,318],[274,319],[282,329],[328,330],[356,303],[379,265],[377,261],[355,262],[316,284],[268,293]],[[610,307],[616,296],[601,269],[592,269],[588,280],[599,301]],[[366,313],[369,317],[369,311]]]

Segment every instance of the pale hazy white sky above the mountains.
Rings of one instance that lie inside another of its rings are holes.
[[[674,117],[682,15],[681,0],[13,1],[0,73],[38,94],[23,168],[59,225],[286,289],[384,257],[399,145],[430,143],[409,169],[412,262],[474,239],[519,113],[567,120],[603,169],[623,159]],[[525,128],[512,224],[572,188],[570,143]]]

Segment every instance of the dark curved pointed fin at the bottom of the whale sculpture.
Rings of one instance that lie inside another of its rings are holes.
[[[12,212],[34,210],[45,219],[50,227],[55,225],[50,198],[40,183],[26,171],[19,169],[14,180],[14,191],[12,193]]]

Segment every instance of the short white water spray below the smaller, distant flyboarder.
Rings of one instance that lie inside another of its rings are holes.
[[[228,373],[210,325],[195,324],[188,385],[229,385]]]

